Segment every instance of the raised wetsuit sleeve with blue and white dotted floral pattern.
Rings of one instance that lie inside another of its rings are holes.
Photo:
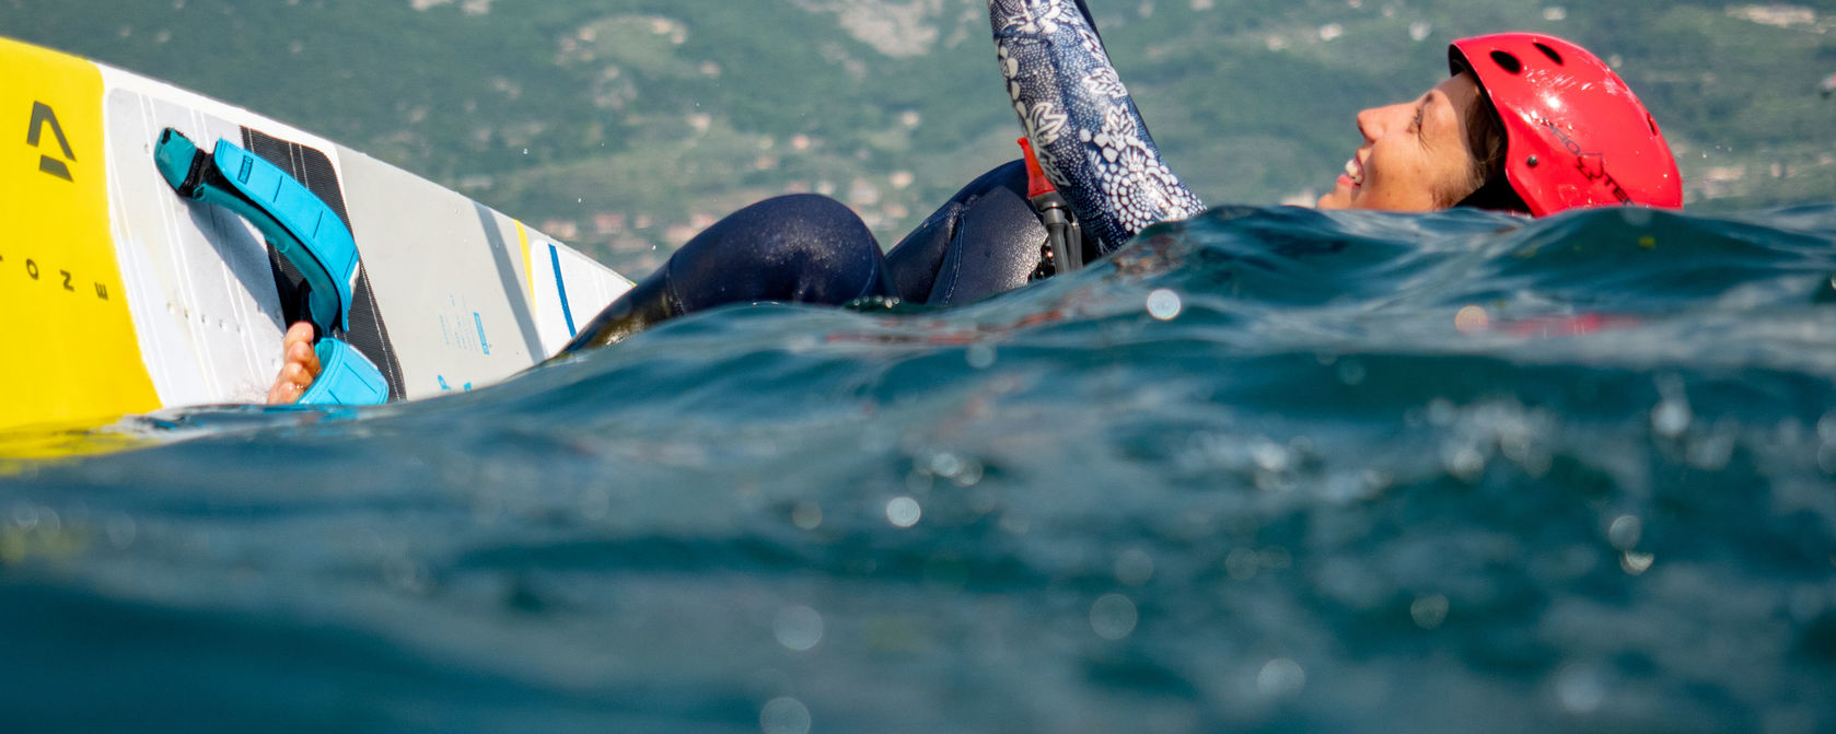
[[[1160,160],[1074,0],[988,0],[995,55],[1039,167],[1113,251],[1149,224],[1204,211]]]

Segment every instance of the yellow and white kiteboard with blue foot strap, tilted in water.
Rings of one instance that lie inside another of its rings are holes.
[[[15,130],[0,138],[0,429],[261,402],[296,319],[321,325],[321,358],[336,343],[365,365],[358,402],[481,387],[630,288],[510,217],[255,112],[7,39],[0,73]],[[200,171],[235,200],[184,189]],[[297,226],[301,211],[314,220]],[[345,257],[310,250],[321,235]]]

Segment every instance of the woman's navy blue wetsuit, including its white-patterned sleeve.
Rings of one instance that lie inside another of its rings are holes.
[[[1160,160],[1083,0],[988,0],[997,61],[1039,163],[1107,255],[1153,222],[1203,209]],[[696,235],[613,301],[562,354],[727,303],[845,305],[863,297],[953,305],[1019,288],[1045,226],[1012,161],[962,187],[892,251],[826,196],[777,196]]]

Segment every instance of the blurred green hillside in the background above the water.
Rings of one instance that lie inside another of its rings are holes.
[[[1691,207],[1836,196],[1836,0],[1091,0],[1208,202],[1331,185],[1353,114],[1537,29],[1652,106]],[[714,217],[821,191],[890,246],[1019,127],[979,0],[0,0],[0,35],[242,105],[643,273]]]

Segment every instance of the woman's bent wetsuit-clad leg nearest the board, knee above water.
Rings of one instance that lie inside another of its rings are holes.
[[[767,198],[683,244],[580,328],[562,354],[727,303],[843,305],[890,295],[885,272],[874,233],[841,202],[817,195]]]

